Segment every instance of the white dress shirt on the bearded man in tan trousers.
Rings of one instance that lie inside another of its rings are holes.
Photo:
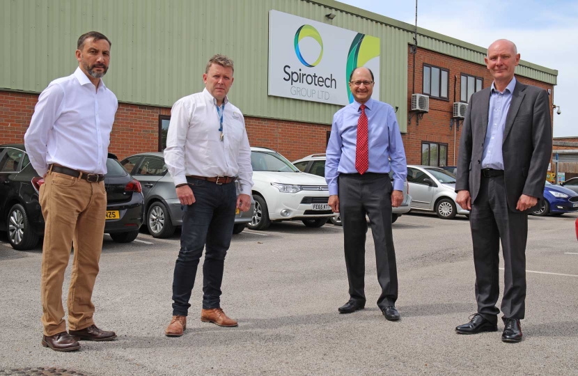
[[[80,68],[55,79],[40,93],[24,145],[42,176],[49,164],[107,173],[107,155],[116,95],[100,80],[98,90]]]

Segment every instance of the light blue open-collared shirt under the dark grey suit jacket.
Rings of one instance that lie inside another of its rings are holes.
[[[496,90],[492,82],[490,108],[487,113],[487,131],[485,132],[482,169],[503,170],[503,130],[506,128],[506,116],[512,102],[512,93],[516,87],[515,77],[506,86],[503,93]]]

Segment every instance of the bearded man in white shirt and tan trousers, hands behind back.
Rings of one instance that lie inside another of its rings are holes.
[[[52,81],[40,94],[24,135],[26,152],[45,178],[40,205],[45,219],[42,247],[42,346],[80,348],[78,340],[113,340],[93,321],[91,301],[102,251],[107,210],[104,174],[118,101],[100,77],[109,68],[111,42],[91,31],[77,42],[77,70]],[[62,285],[74,245],[68,290],[68,333]]]

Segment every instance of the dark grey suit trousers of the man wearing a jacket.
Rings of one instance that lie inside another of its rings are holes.
[[[504,260],[503,318],[522,320],[526,299],[526,239],[528,214],[508,210],[502,176],[481,178],[480,192],[471,205],[469,223],[474,243],[478,313],[493,324],[499,288],[500,240]]]

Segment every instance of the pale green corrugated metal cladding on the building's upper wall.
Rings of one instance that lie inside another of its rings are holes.
[[[330,124],[340,106],[267,95],[269,10],[280,10],[381,40],[380,98],[407,127],[407,45],[411,25],[333,0],[0,0],[0,88],[39,93],[77,66],[77,38],[112,42],[104,81],[120,102],[171,107],[201,91],[205,63],[235,61],[231,102],[247,116]],[[332,21],[328,13],[337,16]],[[421,47],[483,63],[484,50],[419,29]],[[557,72],[527,64],[518,73],[556,83]]]

